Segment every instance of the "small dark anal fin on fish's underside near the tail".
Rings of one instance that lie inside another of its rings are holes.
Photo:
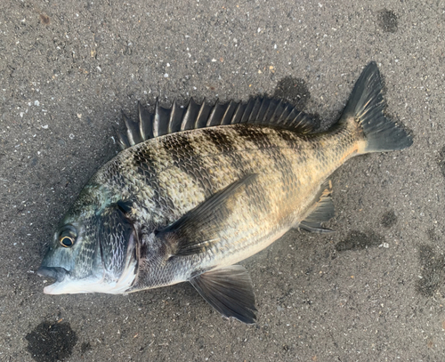
[[[324,189],[324,188],[322,188]],[[331,229],[322,228],[321,224],[327,222],[334,217],[334,203],[331,197],[331,182],[329,181],[328,189],[324,189],[319,200],[309,209],[307,216],[298,224],[299,229],[311,232],[329,233]]]

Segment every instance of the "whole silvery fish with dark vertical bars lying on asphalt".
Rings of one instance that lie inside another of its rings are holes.
[[[37,274],[44,294],[127,294],[190,282],[225,318],[256,321],[239,265],[290,229],[328,233],[328,177],[348,159],[406,149],[412,137],[384,116],[375,62],[362,71],[328,130],[267,96],[186,107],[139,103],[124,115],[122,150],[80,191]]]

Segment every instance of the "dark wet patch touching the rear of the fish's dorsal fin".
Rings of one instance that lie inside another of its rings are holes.
[[[275,87],[273,97],[287,101],[296,109],[302,110],[311,99],[311,93],[302,78],[285,76]]]

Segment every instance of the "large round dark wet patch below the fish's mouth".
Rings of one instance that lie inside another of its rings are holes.
[[[77,343],[69,323],[44,321],[27,334],[28,352],[36,362],[61,361],[71,356]]]

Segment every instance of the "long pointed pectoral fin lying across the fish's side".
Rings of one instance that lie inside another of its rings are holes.
[[[224,226],[224,219],[231,213],[231,205],[243,192],[244,186],[255,177],[255,173],[248,174],[233,182],[172,225],[159,230],[156,237],[166,242],[174,256],[204,253],[208,246],[219,241],[219,231]]]

